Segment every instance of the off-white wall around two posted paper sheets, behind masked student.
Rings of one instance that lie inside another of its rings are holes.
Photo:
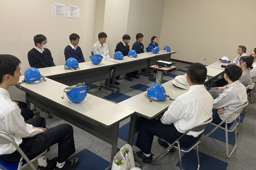
[[[52,2],[80,6],[80,18],[53,17]],[[96,0],[0,0],[0,6],[0,53],[17,56],[22,62],[21,73],[29,67],[27,54],[35,46],[36,34],[46,36],[55,65],[63,65],[69,35],[77,33],[84,58],[89,61]]]

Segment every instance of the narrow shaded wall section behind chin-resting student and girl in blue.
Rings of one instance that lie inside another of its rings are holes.
[[[127,34],[131,36],[132,44],[136,41],[137,33],[144,35],[144,52],[151,42],[151,37],[156,36],[158,44],[161,42],[164,4],[165,0],[130,0]],[[132,46],[130,48],[132,49]]]

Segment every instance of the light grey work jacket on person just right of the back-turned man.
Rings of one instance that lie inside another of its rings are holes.
[[[228,85],[226,89],[220,94],[219,97],[214,99],[213,108],[220,109],[224,107],[224,115],[219,114],[220,119],[224,120],[228,115],[239,106],[243,105],[247,101],[246,89],[239,80]],[[234,113],[228,118],[228,123],[235,120],[240,113]]]

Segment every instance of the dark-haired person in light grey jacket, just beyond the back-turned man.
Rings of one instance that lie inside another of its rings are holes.
[[[220,124],[233,110],[247,101],[246,89],[238,80],[241,75],[242,69],[235,64],[229,64],[225,68],[224,78],[228,81],[228,86],[219,97],[214,99],[212,123]],[[228,118],[227,123],[231,123],[239,115],[240,113],[234,113]]]

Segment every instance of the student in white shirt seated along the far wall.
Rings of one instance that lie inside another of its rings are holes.
[[[100,32],[98,34],[98,38],[99,38],[99,41],[97,41],[95,44],[93,44],[92,46],[92,53],[93,54],[100,54],[103,59],[110,59],[110,56],[109,56],[109,53],[108,53],[108,46],[106,43],[107,41],[107,34],[105,32]],[[116,79],[118,80],[119,79],[119,76],[116,76]],[[107,82],[107,80],[106,80]],[[105,82],[105,84],[106,84]],[[112,78],[110,79],[110,84],[112,83]],[[115,81],[115,85],[119,85],[120,82],[118,81]]]

